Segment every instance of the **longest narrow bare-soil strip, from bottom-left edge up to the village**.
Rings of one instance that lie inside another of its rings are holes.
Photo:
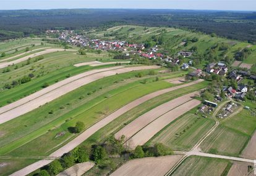
[[[82,134],[75,137],[74,140],[71,140],[66,145],[64,145],[61,148],[59,148],[58,150],[54,151],[54,153],[49,155],[49,158],[61,157],[64,153],[68,153],[69,151],[73,150],[75,147],[79,146],[83,141],[87,140],[88,137],[95,134],[95,132],[100,130],[102,127],[109,124],[109,122],[118,118],[119,116],[121,116],[122,114],[131,110],[132,108],[135,108],[136,106],[138,106],[144,102],[147,102],[151,98],[155,98],[159,95],[165,94],[167,92],[171,92],[173,90],[181,89],[182,87],[192,86],[192,85],[197,84],[198,82],[202,82],[202,81],[203,81],[202,79],[198,79],[197,81],[189,82],[187,84],[182,84],[180,86],[171,87],[171,88],[163,89],[163,90],[158,90],[157,92],[153,92],[151,94],[145,95],[141,98],[138,98],[137,100],[134,100],[131,103],[128,103],[127,105],[123,106],[122,108],[109,114],[108,116],[106,116],[106,118],[102,119],[101,121],[96,122],[93,126],[89,127],[87,130],[82,132]],[[37,162],[31,164],[30,166],[24,167],[23,169],[18,170],[17,172],[14,172],[14,174],[12,174],[12,176],[22,176],[22,175],[30,174],[34,170],[40,169],[40,167],[43,167],[52,161],[53,161],[53,159],[43,159],[43,160],[37,161]]]

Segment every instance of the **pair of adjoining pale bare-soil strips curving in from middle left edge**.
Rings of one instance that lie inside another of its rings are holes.
[[[115,69],[116,68],[116,69]],[[72,90],[75,90],[79,87],[85,86],[90,82],[96,81],[101,78],[105,78],[107,76],[113,76],[115,74],[127,73],[130,71],[136,70],[148,70],[148,69],[156,69],[160,68],[159,66],[130,66],[130,67],[114,67],[105,69],[105,71],[101,70],[94,70],[96,73],[90,74],[88,76],[84,76],[80,79],[76,79],[75,81],[68,82],[61,87],[53,89],[54,86],[59,85],[58,83],[54,84],[51,89],[45,94],[44,89],[42,91],[36,92],[35,94],[29,95],[28,97],[22,98],[17,102],[11,103],[7,106],[0,108],[0,124],[10,121],[11,119],[17,118],[29,111],[35,110],[36,108],[40,107],[41,105],[45,105],[45,103],[51,102],[56,98],[65,95]],[[92,71],[93,72],[93,71]],[[85,73],[86,74],[86,73]],[[87,73],[88,74],[88,73]],[[65,80],[64,80],[65,81]],[[63,84],[63,82],[59,82]],[[47,89],[48,90],[48,89]]]

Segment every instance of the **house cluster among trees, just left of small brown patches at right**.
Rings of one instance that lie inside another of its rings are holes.
[[[205,71],[209,74],[215,73],[220,76],[226,76],[226,73],[228,73],[228,66],[226,66],[226,64],[223,62],[210,63],[209,65],[207,65]]]

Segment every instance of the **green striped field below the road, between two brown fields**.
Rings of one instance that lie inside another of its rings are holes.
[[[229,166],[229,161],[224,159],[190,156],[171,175],[221,176],[226,168],[229,169]]]

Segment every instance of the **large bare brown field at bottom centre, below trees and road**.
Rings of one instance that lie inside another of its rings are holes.
[[[162,156],[158,158],[134,159],[119,167],[111,176],[155,176],[166,174],[182,155]]]

